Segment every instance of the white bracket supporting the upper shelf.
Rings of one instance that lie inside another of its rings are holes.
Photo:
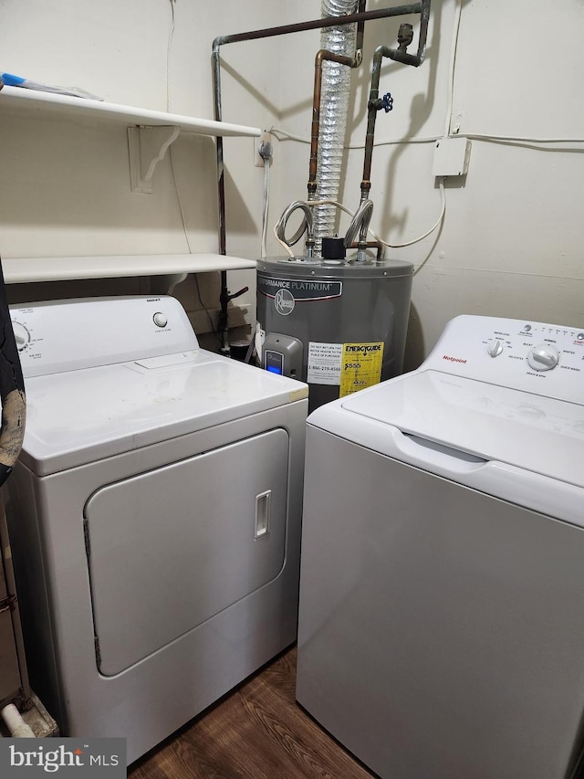
[[[152,175],[156,165],[164,159],[171,143],[181,132],[172,125],[145,125],[128,128],[130,153],[130,187],[132,192],[152,194]]]

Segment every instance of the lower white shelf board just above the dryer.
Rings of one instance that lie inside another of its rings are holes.
[[[119,257],[4,258],[5,282],[69,279],[114,279],[121,276],[165,276],[213,270],[255,268],[255,259],[221,254],[125,255]]]

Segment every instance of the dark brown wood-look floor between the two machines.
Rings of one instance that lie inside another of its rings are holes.
[[[131,779],[370,779],[295,701],[296,648],[133,763]]]

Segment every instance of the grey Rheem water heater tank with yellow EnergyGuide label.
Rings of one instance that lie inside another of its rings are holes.
[[[401,374],[412,273],[400,260],[259,260],[262,367],[308,382],[310,410]]]

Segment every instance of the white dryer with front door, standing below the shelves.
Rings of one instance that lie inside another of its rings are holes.
[[[166,297],[13,308],[6,483],[33,686],[132,762],[296,639],[306,384],[205,352]]]

